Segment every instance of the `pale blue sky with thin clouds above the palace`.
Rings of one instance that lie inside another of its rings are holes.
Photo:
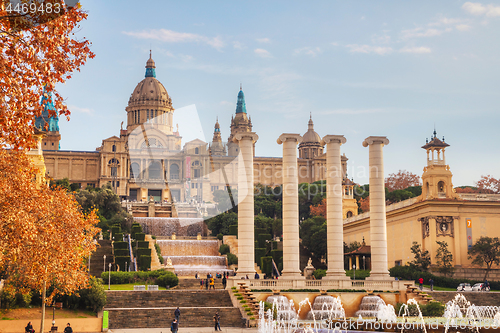
[[[451,145],[455,186],[500,177],[500,2],[81,4],[89,17],[77,36],[96,57],[59,87],[72,111],[61,149],[94,150],[119,134],[151,48],[174,108],[194,104],[207,140],[216,117],[229,136],[242,83],[257,156],[281,156],[278,136],[304,134],[312,113],[320,136],[345,135],[348,173],[361,184],[366,137],[389,138],[386,174],[421,175],[434,126]]]

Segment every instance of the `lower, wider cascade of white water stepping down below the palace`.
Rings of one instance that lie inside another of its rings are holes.
[[[219,255],[216,240],[157,240],[164,261],[169,258],[177,275],[230,272]]]

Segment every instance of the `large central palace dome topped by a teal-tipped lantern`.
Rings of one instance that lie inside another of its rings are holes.
[[[144,123],[161,130],[167,135],[173,133],[174,109],[167,89],[156,79],[156,66],[149,54],[146,62],[146,75],[139,82],[128,100],[127,131],[130,133]]]

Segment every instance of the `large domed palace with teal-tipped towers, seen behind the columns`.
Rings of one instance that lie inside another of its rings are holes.
[[[239,147],[233,138],[239,132],[253,130],[241,87],[227,143],[222,141],[217,119],[212,142],[196,139],[182,144],[182,136],[173,126],[172,99],[156,79],[151,55],[146,62],[145,77],[132,91],[125,111],[126,127],[122,123],[119,136],[102,140],[95,151],[60,150],[58,126],[45,126],[46,138],[52,140],[44,139],[46,142],[42,143],[48,176],[69,178],[81,188],[101,187],[109,182],[129,202],[147,202],[152,198],[164,203],[206,203],[213,201],[214,191],[237,187]],[[50,117],[42,120],[40,123],[54,123]],[[255,143],[253,148],[255,184],[281,185],[282,158],[255,157]],[[298,150],[299,183],[324,180],[326,156],[312,117]],[[347,160],[342,156],[344,216],[353,216],[358,210],[353,197],[354,184],[346,175]]]

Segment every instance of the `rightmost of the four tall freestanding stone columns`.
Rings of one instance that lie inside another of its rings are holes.
[[[370,246],[372,270],[369,280],[392,280],[387,269],[387,225],[385,215],[384,154],[389,144],[385,136],[369,136],[363,147],[370,154]]]

